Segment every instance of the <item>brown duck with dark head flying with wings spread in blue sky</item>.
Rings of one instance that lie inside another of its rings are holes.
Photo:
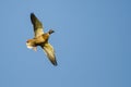
[[[34,13],[31,13],[31,22],[34,27],[34,38],[26,41],[26,46],[29,49],[37,50],[37,46],[40,46],[45,51],[46,55],[53,65],[57,65],[57,60],[55,55],[53,47],[49,44],[49,36],[55,33],[55,30],[49,29],[48,33],[44,33],[41,22],[35,16]]]

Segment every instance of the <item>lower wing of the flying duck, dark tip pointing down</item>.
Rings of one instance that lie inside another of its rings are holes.
[[[41,46],[41,48],[44,49],[46,55],[48,57],[48,59],[50,60],[50,62],[53,65],[57,65],[57,60],[56,60],[56,55],[55,55],[55,50],[52,48],[52,46],[49,42],[44,44],[44,46]]]

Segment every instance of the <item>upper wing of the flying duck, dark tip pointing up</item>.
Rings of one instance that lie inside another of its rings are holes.
[[[32,21],[32,24],[33,24],[33,27],[34,27],[35,37],[38,37],[39,35],[44,34],[43,24],[41,24],[41,22],[35,16],[34,13],[31,13],[31,21]]]

